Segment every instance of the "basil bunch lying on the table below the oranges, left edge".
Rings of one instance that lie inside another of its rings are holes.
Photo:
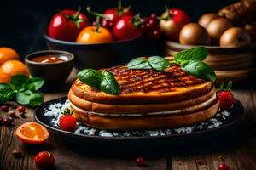
[[[20,105],[37,106],[44,102],[38,89],[44,85],[44,79],[16,75],[9,83],[0,83],[0,104],[15,100]]]

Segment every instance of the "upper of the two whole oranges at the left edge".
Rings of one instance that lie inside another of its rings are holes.
[[[0,65],[3,65],[8,60],[19,60],[20,55],[12,48],[0,48]]]

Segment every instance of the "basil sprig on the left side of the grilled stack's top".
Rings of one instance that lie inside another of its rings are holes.
[[[106,94],[119,94],[119,83],[115,80],[110,71],[96,71],[94,69],[84,69],[79,71],[77,77],[90,87],[99,88]]]

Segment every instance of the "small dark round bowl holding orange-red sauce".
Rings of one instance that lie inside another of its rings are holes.
[[[58,63],[38,63],[31,59],[45,55],[65,56],[67,61]],[[32,77],[42,77],[45,85],[55,87],[63,84],[73,69],[73,54],[66,51],[45,50],[28,54],[25,58],[26,67]]]

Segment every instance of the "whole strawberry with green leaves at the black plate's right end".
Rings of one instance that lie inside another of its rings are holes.
[[[232,87],[232,82],[229,82],[227,85],[227,88],[224,88],[224,84],[222,83],[220,85],[220,88],[218,90],[218,102],[219,107],[223,110],[228,110],[233,105],[233,94],[230,92],[230,88]]]

